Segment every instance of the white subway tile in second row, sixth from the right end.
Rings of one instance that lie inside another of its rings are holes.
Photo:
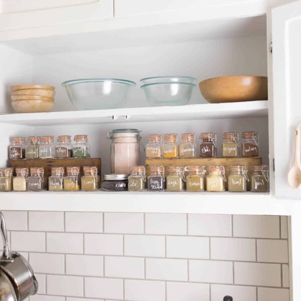
[[[81,233],[47,233],[47,252],[83,253],[83,234]]]

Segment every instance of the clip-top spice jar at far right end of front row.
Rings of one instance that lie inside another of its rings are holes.
[[[267,165],[251,166],[251,191],[252,192],[268,192],[269,177]]]

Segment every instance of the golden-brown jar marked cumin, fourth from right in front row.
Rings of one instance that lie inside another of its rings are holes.
[[[190,192],[202,192],[205,190],[204,176],[206,173],[204,166],[187,166],[185,171],[188,172],[186,176],[186,190]]]

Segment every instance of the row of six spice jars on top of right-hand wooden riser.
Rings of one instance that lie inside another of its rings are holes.
[[[257,157],[259,154],[258,132],[247,131],[242,133],[242,157]],[[165,134],[162,141],[161,134],[151,134],[146,144],[146,158],[196,158],[196,135],[184,133],[178,144],[178,134]],[[217,155],[216,133],[201,133],[199,156],[214,158]],[[239,156],[239,134],[225,132],[222,143],[223,157],[234,158]]]

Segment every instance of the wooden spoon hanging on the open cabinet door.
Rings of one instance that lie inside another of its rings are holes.
[[[301,148],[300,148],[300,124],[296,127],[296,135],[295,135],[295,154],[292,167],[290,168],[287,176],[288,185],[291,188],[298,188],[301,184]]]

